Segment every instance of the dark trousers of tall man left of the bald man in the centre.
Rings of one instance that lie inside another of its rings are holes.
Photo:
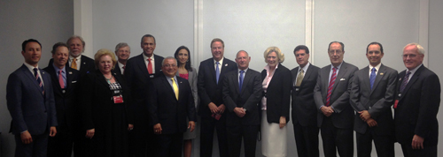
[[[223,115],[221,116],[220,120],[216,120],[213,117],[201,117],[200,157],[213,156],[214,129],[217,130],[220,157],[228,156],[229,153],[226,137],[226,115]]]

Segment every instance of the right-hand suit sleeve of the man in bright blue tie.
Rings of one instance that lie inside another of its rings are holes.
[[[397,85],[397,71],[389,72],[388,85],[386,86],[385,97],[378,100],[372,108],[368,110],[369,115],[372,117],[377,117],[380,113],[384,112],[386,109],[390,110],[395,94],[395,86]]]

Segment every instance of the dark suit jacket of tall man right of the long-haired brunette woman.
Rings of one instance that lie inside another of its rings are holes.
[[[209,58],[201,62],[198,68],[198,96],[200,97],[198,116],[209,117],[212,115],[211,110],[207,107],[210,102],[214,102],[217,106],[224,104],[221,96],[223,78],[227,72],[237,70],[237,64],[225,57],[217,84],[214,67],[214,58]]]

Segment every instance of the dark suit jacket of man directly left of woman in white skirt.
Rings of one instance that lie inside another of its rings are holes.
[[[229,110],[226,126],[259,125],[259,107],[263,88],[258,71],[248,69],[243,79],[242,92],[238,87],[238,71],[229,71],[223,79],[223,101]],[[234,108],[245,108],[246,115],[239,117]]]

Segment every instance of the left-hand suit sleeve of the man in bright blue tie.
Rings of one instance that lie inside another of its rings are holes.
[[[366,110],[366,108],[361,105],[360,101],[360,79],[358,73],[359,71],[355,72],[354,80],[351,83],[351,93],[349,94],[349,102],[351,103],[351,106],[354,108],[356,112],[360,112],[362,110]]]

